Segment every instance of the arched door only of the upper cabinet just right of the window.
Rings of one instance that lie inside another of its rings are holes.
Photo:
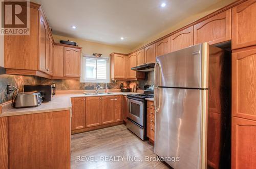
[[[114,54],[114,78],[126,78],[126,56]]]

